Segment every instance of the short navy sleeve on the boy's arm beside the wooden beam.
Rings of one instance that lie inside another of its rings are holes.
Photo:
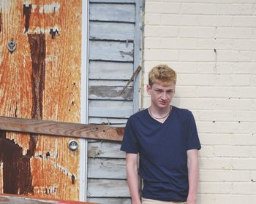
[[[121,151],[134,154],[138,154],[139,152],[136,127],[132,117],[129,117],[127,125],[124,129],[124,138],[121,142]]]

